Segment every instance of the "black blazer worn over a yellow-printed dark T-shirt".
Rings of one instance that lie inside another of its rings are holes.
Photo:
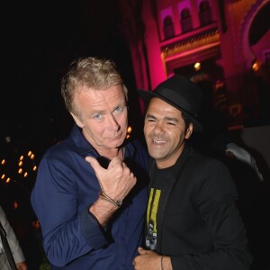
[[[150,166],[153,181],[155,161]],[[249,269],[246,229],[238,213],[236,185],[220,161],[185,147],[160,198],[157,252],[173,269]]]

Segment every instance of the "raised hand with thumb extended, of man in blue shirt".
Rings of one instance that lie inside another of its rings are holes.
[[[85,160],[94,168],[103,193],[113,200],[125,198],[137,182],[130,168],[119,157],[113,157],[106,169],[94,157],[85,157]]]

